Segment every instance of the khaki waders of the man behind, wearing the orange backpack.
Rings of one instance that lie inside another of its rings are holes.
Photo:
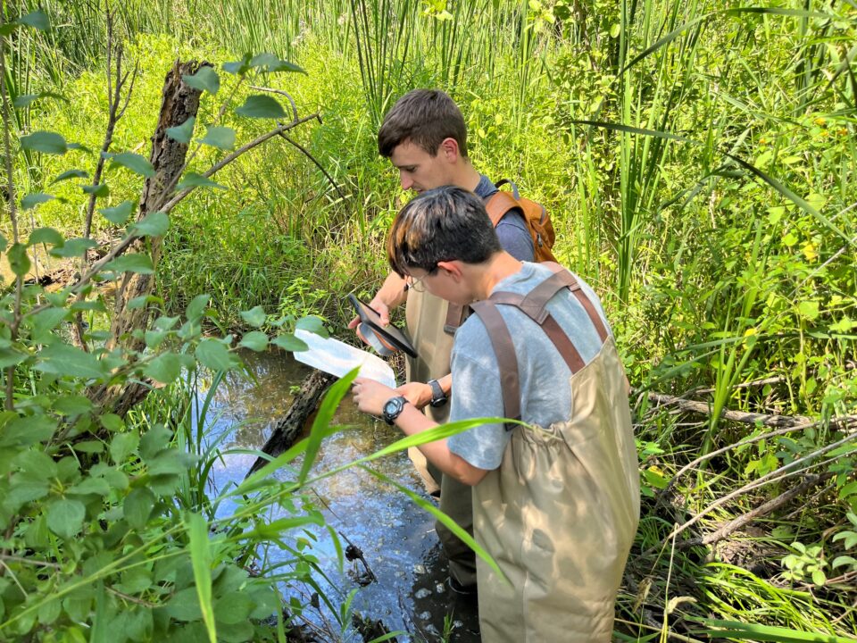
[[[427,382],[449,374],[453,336],[444,332],[447,307],[443,299],[428,292],[408,291],[405,319],[413,347],[419,355],[417,358],[407,358],[405,372],[409,382]],[[437,408],[426,406],[424,412],[439,424],[449,421],[448,404]],[[448,476],[441,476],[437,468],[426,462],[419,449],[410,449],[408,455],[426,481],[428,492],[440,489],[440,510],[472,535],[470,487]],[[435,530],[449,561],[450,575],[465,587],[475,586],[476,556],[473,550],[446,529],[442,522],[435,523]]]

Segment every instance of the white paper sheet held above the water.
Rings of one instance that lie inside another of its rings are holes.
[[[304,340],[309,350],[295,351],[295,359],[319,371],[342,377],[360,367],[360,377],[370,378],[395,388],[395,374],[378,355],[349,346],[338,339],[321,338],[308,330],[295,330],[295,337]]]

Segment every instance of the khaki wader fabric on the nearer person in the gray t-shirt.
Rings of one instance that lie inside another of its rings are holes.
[[[637,532],[637,449],[612,338],[570,378],[569,422],[518,427],[503,463],[473,488],[485,643],[607,643]]]

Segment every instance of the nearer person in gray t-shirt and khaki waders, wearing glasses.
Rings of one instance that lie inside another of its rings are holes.
[[[472,486],[488,643],[606,643],[639,516],[624,370],[597,296],[558,264],[504,252],[482,202],[461,188],[406,205],[387,240],[395,274],[474,313],[455,335],[450,419],[488,422],[422,445]],[[407,435],[436,426],[373,380],[354,401]]]

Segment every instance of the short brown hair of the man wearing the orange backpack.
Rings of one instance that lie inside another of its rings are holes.
[[[378,131],[378,151],[389,158],[396,146],[411,141],[434,156],[445,138],[454,138],[467,158],[467,126],[462,111],[439,89],[413,89],[390,108]]]

